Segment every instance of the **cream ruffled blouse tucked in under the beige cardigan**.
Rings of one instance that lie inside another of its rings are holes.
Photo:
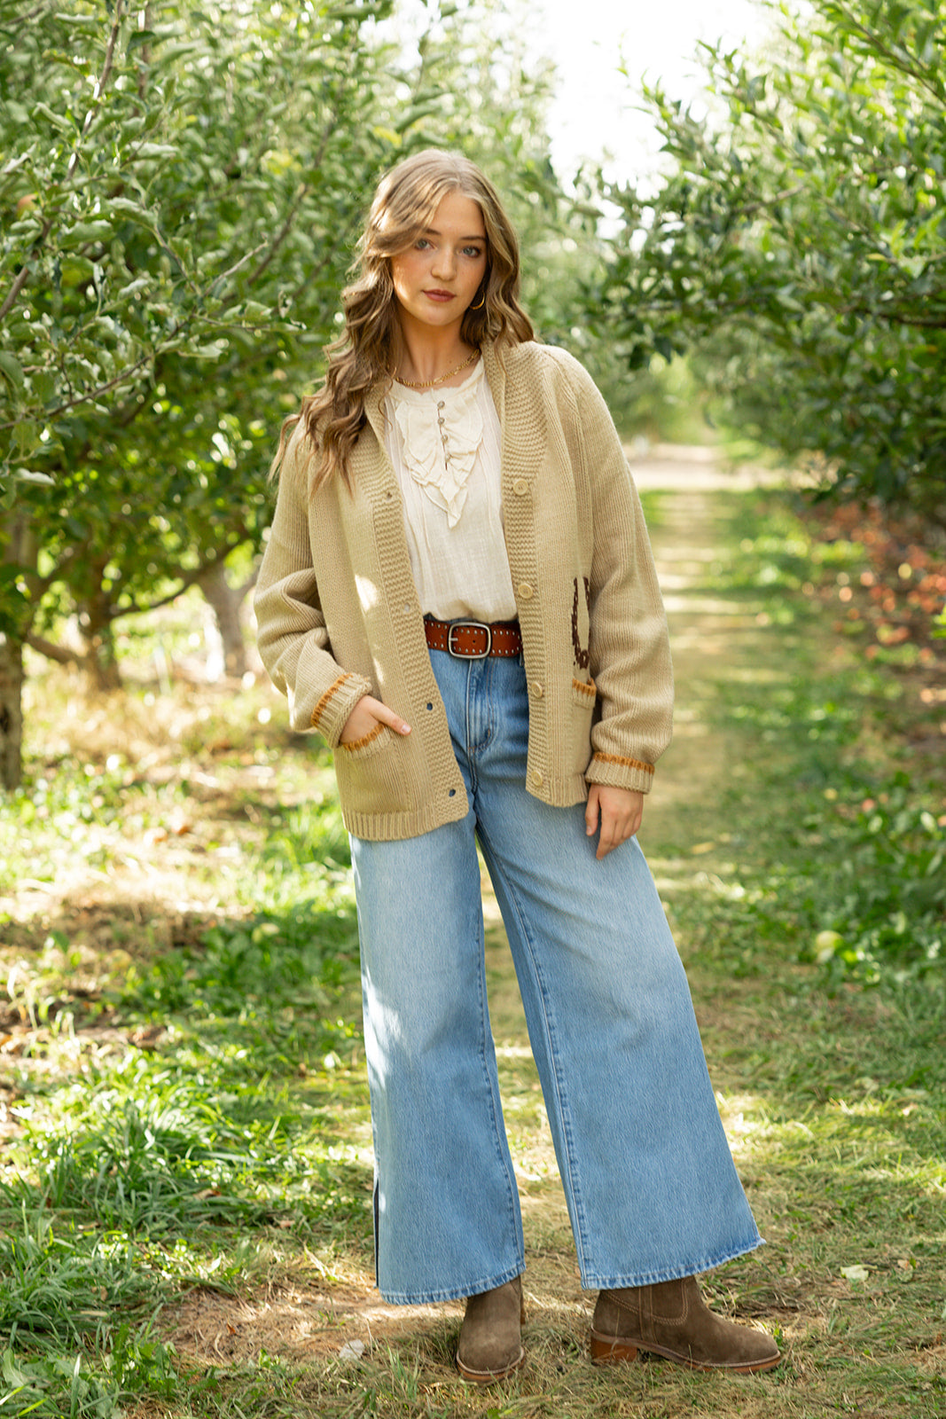
[[[424,614],[515,620],[502,535],[501,429],[482,362],[455,389],[393,385],[386,448]]]

